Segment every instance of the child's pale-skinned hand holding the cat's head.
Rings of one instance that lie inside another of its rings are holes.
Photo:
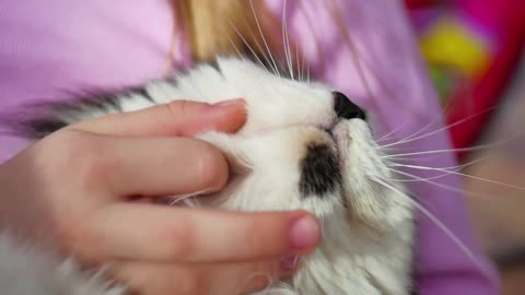
[[[313,215],[152,202],[222,189],[223,154],[191,137],[235,132],[245,119],[242,99],[178,101],[61,129],[0,166],[0,227],[52,243],[85,266],[109,263],[109,273],[139,294],[264,287],[268,278],[250,274],[290,275],[294,258],[314,250],[320,234]]]

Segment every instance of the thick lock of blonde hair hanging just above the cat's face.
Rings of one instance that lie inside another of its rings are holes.
[[[283,52],[281,22],[261,1],[174,0],[173,5],[176,30],[188,36],[194,60],[209,61],[218,54]]]

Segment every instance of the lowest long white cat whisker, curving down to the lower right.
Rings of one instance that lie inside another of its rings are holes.
[[[480,271],[489,272],[486,266],[483,266],[480,260],[477,259],[476,255],[465,245],[443,222],[441,222],[434,214],[427,210],[422,204],[418,203],[413,198],[410,198],[407,193],[400,191],[399,189],[388,185],[386,181],[383,181],[380,178],[372,178],[373,181],[378,185],[384,186],[387,189],[390,189],[394,192],[397,192],[399,196],[409,201],[418,211],[423,213],[435,226],[438,226],[443,233],[451,238],[451,240],[459,247],[459,249],[475,263]]]

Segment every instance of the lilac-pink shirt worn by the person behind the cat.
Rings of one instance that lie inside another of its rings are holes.
[[[44,99],[68,99],[68,91],[136,85],[163,74],[170,50],[173,13],[167,0],[3,0],[0,3],[0,109]],[[279,17],[281,0],[266,0]],[[392,0],[339,0],[337,11],[357,48],[363,83],[346,37],[327,9],[331,1],[288,1],[287,23],[315,76],[380,114],[383,132],[393,140],[443,127],[440,106],[409,30],[405,11]],[[131,4],[132,3],[132,4]],[[312,46],[314,40],[319,45]],[[348,39],[347,39],[348,40]],[[176,63],[189,64],[178,32]],[[1,128],[1,127],[0,127]],[[1,131],[1,129],[0,129]],[[1,132],[0,132],[1,134]],[[25,146],[0,135],[0,163]],[[401,151],[450,149],[446,132],[415,140]],[[415,165],[451,167],[452,153]],[[422,178],[435,173],[407,170]],[[438,173],[440,174],[440,173]],[[460,188],[448,175],[435,180]],[[412,182],[418,201],[486,263],[472,236],[463,196]],[[487,266],[481,271],[430,219],[418,220],[416,278],[422,295],[498,294]]]

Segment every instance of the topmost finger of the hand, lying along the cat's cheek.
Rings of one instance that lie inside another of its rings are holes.
[[[191,137],[210,130],[235,132],[245,121],[246,110],[242,98],[214,105],[175,101],[137,111],[104,116],[69,128],[108,135]]]

